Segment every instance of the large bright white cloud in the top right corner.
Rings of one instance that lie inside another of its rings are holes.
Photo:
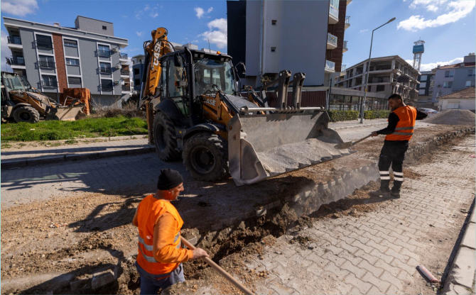
[[[416,2],[413,1],[412,4]],[[440,1],[435,1],[434,3],[439,3]],[[421,1],[418,1],[418,5],[420,4]],[[433,7],[433,1],[431,2],[432,4],[428,4],[426,6],[426,9],[428,10],[428,6]],[[399,26],[397,26],[397,29],[403,28],[404,30],[410,30],[412,32],[415,32],[416,30],[423,30],[424,28],[433,28],[433,27],[439,27],[439,26],[444,26],[448,23],[454,23],[456,21],[459,21],[461,18],[464,18],[468,14],[471,13],[472,9],[475,8],[476,2],[475,1],[451,1],[450,3],[446,4],[445,6],[448,6],[448,13],[444,13],[437,18],[433,20],[428,20],[425,21],[425,18],[423,16],[410,16],[404,21],[401,21],[399,23]],[[412,6],[410,6],[412,7]],[[415,8],[417,5],[415,5]],[[433,9],[433,8],[430,8]],[[436,9],[438,7],[436,6]]]

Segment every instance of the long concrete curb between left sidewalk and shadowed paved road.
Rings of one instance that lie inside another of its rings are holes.
[[[156,147],[149,145],[135,149],[109,150],[107,152],[86,152],[82,154],[66,154],[50,157],[33,157],[30,159],[4,160],[1,161],[1,169],[31,167],[36,165],[52,164],[66,161],[90,160],[104,157],[117,157],[124,155],[141,155],[147,152],[155,152]]]

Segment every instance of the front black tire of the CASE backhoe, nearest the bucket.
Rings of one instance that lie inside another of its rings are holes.
[[[183,165],[193,178],[215,182],[228,175],[227,141],[214,133],[198,133],[185,143]]]

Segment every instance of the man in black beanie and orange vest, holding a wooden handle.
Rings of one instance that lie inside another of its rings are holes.
[[[183,220],[171,201],[183,191],[178,171],[162,169],[156,194],[146,196],[136,210],[132,223],[139,228],[136,268],[141,275],[141,294],[157,294],[178,282],[185,282],[182,263],[208,257],[205,250],[181,247]]]

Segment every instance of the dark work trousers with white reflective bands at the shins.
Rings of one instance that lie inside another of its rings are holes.
[[[394,187],[391,191],[399,193],[404,182],[405,152],[409,148],[407,140],[385,140],[379,157],[380,189],[390,191],[390,166],[394,170]]]

